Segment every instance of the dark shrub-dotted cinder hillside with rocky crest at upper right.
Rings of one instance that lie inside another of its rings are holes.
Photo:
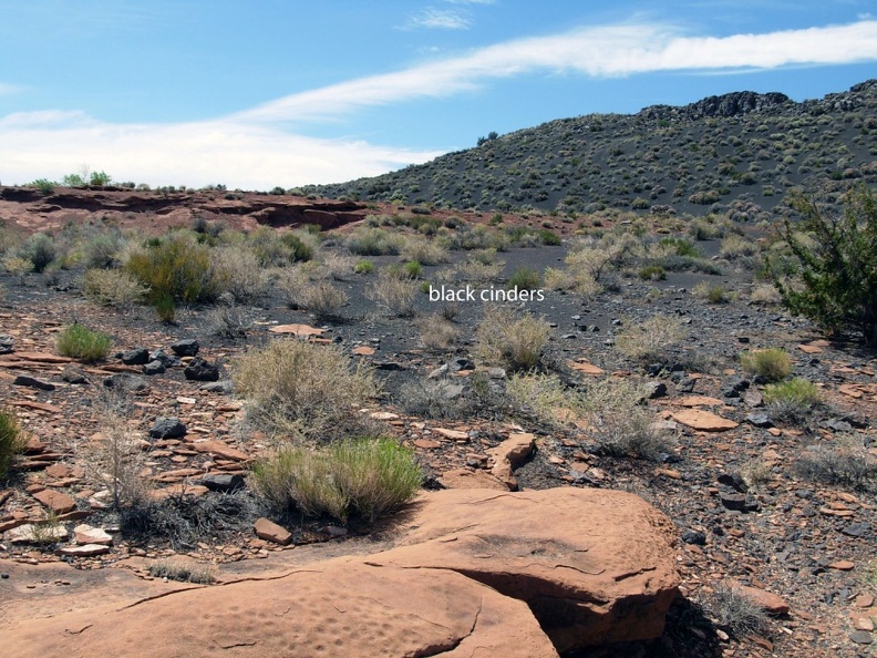
[[[491,137],[423,165],[306,192],[456,208],[754,217],[792,186],[832,191],[877,182],[877,80],[803,103],[739,92]]]

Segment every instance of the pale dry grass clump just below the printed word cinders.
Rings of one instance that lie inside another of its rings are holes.
[[[541,361],[550,335],[550,326],[541,318],[488,306],[475,332],[475,353],[487,363],[530,370]]]

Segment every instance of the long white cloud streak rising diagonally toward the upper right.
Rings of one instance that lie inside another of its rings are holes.
[[[877,60],[877,21],[765,34],[689,37],[673,25],[621,24],[519,39],[394,73],[301,92],[241,112],[247,121],[324,121],[359,107],[444,97],[491,79],[548,71],[592,78],[656,71],[829,65]]]

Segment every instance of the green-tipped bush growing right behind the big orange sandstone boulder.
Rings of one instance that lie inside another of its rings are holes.
[[[280,508],[345,522],[374,521],[409,502],[423,482],[414,452],[394,439],[344,440],[312,450],[285,446],[252,469],[257,491]]]

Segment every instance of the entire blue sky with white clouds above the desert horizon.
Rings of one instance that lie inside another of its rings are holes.
[[[591,112],[877,78],[874,0],[0,0],[0,183],[269,189]]]

